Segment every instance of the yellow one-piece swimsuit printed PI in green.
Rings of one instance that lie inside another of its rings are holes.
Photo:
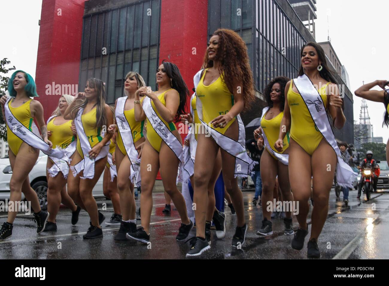
[[[103,140],[101,136],[101,128],[96,128],[96,107],[86,114],[81,115],[81,123],[84,127],[84,132],[88,137],[89,144],[91,148],[95,146],[98,142]],[[77,131],[79,132],[79,131]],[[80,154],[81,158],[84,159],[84,153],[82,153],[80,140],[77,140],[77,151]]]

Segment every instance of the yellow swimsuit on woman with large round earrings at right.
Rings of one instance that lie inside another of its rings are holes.
[[[319,94],[323,100],[326,110],[326,87],[328,84],[324,84],[319,90]],[[323,139],[323,135],[319,129],[317,129],[317,126],[315,125],[303,98],[299,93],[293,91],[292,85],[293,80],[291,81],[287,93],[288,105],[291,112],[290,137],[296,141],[296,143],[298,143],[308,154],[312,155]]]

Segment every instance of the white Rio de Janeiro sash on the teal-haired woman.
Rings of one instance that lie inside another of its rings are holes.
[[[53,156],[55,158],[69,161],[69,158],[66,154],[63,153],[60,149],[53,149],[49,147],[49,144],[42,140],[42,137],[39,134],[38,128],[34,122],[32,122],[32,132],[26,128],[15,116],[12,114],[12,111],[9,109],[8,104],[12,97],[7,99],[7,102],[4,105],[5,118],[9,129],[18,136],[21,140],[26,142],[31,147],[41,150],[48,156]]]

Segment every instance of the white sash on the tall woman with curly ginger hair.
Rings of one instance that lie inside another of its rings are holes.
[[[200,82],[202,70],[198,71],[193,77],[195,88],[197,88]],[[224,151],[235,157],[235,178],[236,177],[247,177],[251,174],[252,168],[258,164],[258,162],[252,160],[247,154],[245,147],[245,129],[243,121],[240,115],[237,116],[238,121],[238,141],[228,138],[227,136],[217,132],[211,126],[203,121],[203,106],[200,98],[196,98],[196,109],[200,122],[204,126],[206,132],[209,132],[216,144],[219,145]]]

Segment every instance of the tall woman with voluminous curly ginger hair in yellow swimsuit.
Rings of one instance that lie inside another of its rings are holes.
[[[239,116],[254,100],[254,82],[245,42],[232,30],[217,30],[209,40],[202,68],[205,69],[194,77],[196,109],[201,131],[204,131],[198,132],[194,167],[196,237],[191,240],[187,257],[198,256],[210,248],[205,239],[207,186],[219,148],[224,184],[237,213],[233,247],[244,244],[247,230],[237,177],[247,176],[255,164],[246,153],[244,126]]]

